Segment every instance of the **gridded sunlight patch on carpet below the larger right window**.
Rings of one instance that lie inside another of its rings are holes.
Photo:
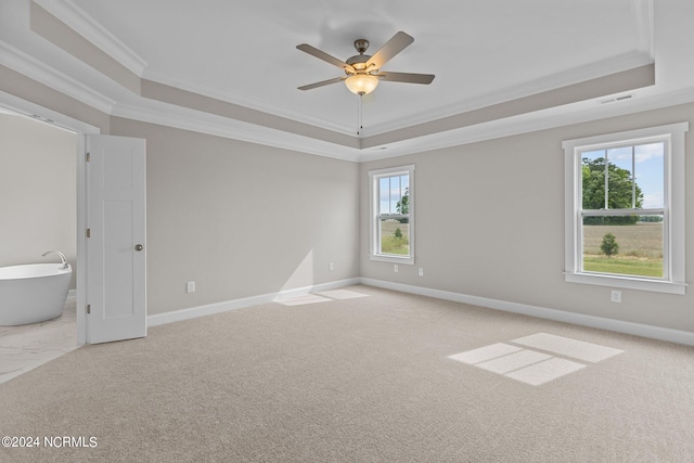
[[[523,347],[514,346],[514,344]],[[507,344],[491,344],[454,353],[448,358],[532,386],[540,386],[587,366],[583,363],[545,352],[596,363],[621,353],[624,350],[552,334],[537,333],[510,340]]]

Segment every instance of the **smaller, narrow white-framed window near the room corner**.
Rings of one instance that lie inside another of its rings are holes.
[[[369,172],[371,259],[414,263],[414,166]]]

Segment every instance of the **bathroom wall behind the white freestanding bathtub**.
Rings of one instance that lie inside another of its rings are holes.
[[[57,249],[75,268],[76,155],[74,133],[0,114],[0,267]]]

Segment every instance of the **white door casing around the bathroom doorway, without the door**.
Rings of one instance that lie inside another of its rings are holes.
[[[49,110],[48,107],[31,103],[27,100],[17,98],[11,93],[0,91],[0,104],[8,110],[23,114],[25,116],[39,115],[43,118],[51,119],[53,123],[64,129],[75,132],[77,138],[76,153],[76,181],[77,181],[77,223],[75,229],[76,243],[76,293],[77,293],[77,345],[87,344],[87,163],[86,137],[87,134],[101,134],[101,128],[66,116],[62,113]]]

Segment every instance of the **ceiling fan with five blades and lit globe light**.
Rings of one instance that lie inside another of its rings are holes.
[[[413,41],[414,39],[411,36],[399,31],[373,55],[368,55],[364,54],[364,52],[369,48],[369,40],[358,39],[355,40],[355,48],[359,54],[349,57],[347,61],[340,61],[308,43],[296,46],[297,49],[339,67],[346,74],[346,76],[343,77],[335,77],[333,79],[309,83],[308,86],[303,86],[298,89],[311,90],[318,87],[345,81],[349,91],[358,95],[364,95],[374,91],[378,86],[380,80],[407,83],[432,83],[432,80],[434,80],[435,77],[433,74],[390,73],[381,70],[387,61],[400,53]]]

